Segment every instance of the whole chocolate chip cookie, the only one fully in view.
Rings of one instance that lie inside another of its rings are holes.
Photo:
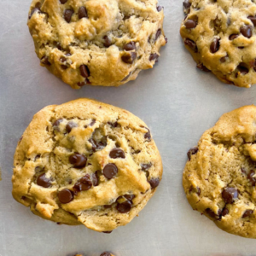
[[[106,233],[145,207],[162,175],[147,125],[89,99],[36,113],[14,166],[16,201],[42,218]]]

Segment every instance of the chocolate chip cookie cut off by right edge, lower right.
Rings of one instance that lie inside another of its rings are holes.
[[[256,107],[224,115],[190,148],[183,189],[218,228],[256,238]]]

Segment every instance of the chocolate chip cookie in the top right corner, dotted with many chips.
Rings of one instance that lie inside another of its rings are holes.
[[[256,2],[185,0],[180,33],[202,71],[226,84],[256,84]]]

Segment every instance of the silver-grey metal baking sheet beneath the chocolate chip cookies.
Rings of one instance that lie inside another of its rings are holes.
[[[119,88],[73,90],[39,66],[26,26],[30,0],[0,2],[0,256],[247,256],[255,242],[219,230],[189,206],[182,188],[188,149],[221,114],[255,103],[251,89],[223,84],[196,70],[183,48],[179,26],[182,0],[165,6],[168,44],[154,69]],[[57,225],[34,216],[11,195],[16,143],[34,113],[49,104],[90,97],[125,108],[150,127],[164,165],[163,181],[131,224],[100,234],[84,226]],[[70,254],[72,255],[72,254]]]

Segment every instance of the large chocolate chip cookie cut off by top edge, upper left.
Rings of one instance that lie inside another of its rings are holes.
[[[79,89],[152,68],[166,44],[163,19],[156,0],[33,0],[27,24],[41,65]]]

